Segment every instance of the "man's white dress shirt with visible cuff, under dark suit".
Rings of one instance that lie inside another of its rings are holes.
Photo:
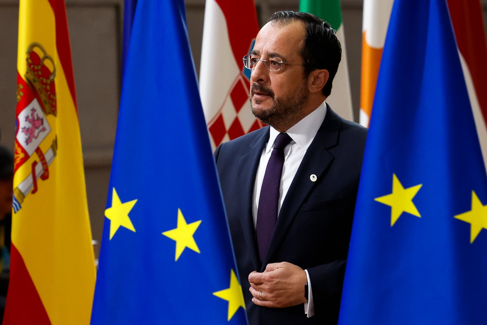
[[[291,137],[292,141],[284,147],[284,166],[282,167],[281,184],[279,186],[279,201],[278,201],[278,218],[281,211],[282,202],[286,197],[287,191],[300,167],[304,154],[308,150],[311,142],[318,133],[318,129],[323,123],[326,115],[326,104],[321,103],[316,110],[305,116],[298,123],[293,125],[286,133]],[[274,142],[280,132],[270,127],[269,141],[262,151],[261,160],[257,168],[257,176],[255,178],[254,193],[252,196],[252,215],[254,218],[254,228],[257,225],[257,209],[259,207],[259,198],[261,196],[262,181],[264,179],[265,169],[274,149]],[[306,276],[308,278],[309,298],[308,303],[304,304],[305,313],[308,317],[315,314],[313,296],[311,291],[311,281],[309,279],[308,271]]]

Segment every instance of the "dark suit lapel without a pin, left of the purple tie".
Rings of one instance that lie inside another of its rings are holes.
[[[257,167],[259,166],[262,150],[269,140],[269,127],[266,127],[262,134],[250,144],[250,150],[239,159],[239,175],[238,182],[235,186],[242,186],[242,197],[239,199],[240,206],[243,213],[240,213],[240,224],[244,232],[247,249],[252,254],[252,261],[254,262],[254,269],[259,269],[259,252],[257,249],[257,242],[255,239],[254,219],[252,216],[252,196],[254,192],[255,177],[257,174]],[[246,211],[246,213],[244,213]]]

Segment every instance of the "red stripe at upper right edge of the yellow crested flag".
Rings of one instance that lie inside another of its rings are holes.
[[[78,106],[76,104],[75,77],[73,74],[73,62],[71,61],[71,46],[69,43],[68,20],[66,18],[66,4],[64,0],[49,0],[56,19],[56,50],[61,66],[68,82],[69,91],[75,103],[76,115]]]

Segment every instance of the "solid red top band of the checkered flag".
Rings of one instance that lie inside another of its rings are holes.
[[[248,54],[249,39],[259,32],[259,22],[253,0],[215,0],[225,15],[228,36],[236,62],[242,63],[242,57]]]

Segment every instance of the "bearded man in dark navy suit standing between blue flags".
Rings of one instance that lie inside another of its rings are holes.
[[[244,57],[252,112],[269,126],[215,160],[251,325],[337,323],[367,133],[325,103],[340,59],[330,25],[292,11]]]

